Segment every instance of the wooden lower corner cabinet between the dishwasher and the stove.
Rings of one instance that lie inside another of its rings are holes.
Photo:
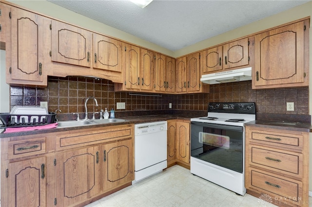
[[[190,168],[190,121],[167,121],[167,165]]]

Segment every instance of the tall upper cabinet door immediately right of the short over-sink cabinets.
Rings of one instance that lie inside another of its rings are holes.
[[[140,49],[126,45],[126,88],[140,88]]]

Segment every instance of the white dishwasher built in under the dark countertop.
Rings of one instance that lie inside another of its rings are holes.
[[[167,168],[167,121],[135,124],[135,180]]]

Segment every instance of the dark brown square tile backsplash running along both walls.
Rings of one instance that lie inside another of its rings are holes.
[[[136,92],[134,92],[136,93]],[[137,94],[137,93],[136,93]],[[210,86],[209,94],[149,94],[159,96],[134,96],[129,92],[114,92],[114,83],[89,77],[49,77],[48,86],[10,87],[10,107],[14,105],[40,105],[48,102],[48,110],[60,109],[62,113],[84,113],[86,97],[94,96],[95,107],[89,100],[89,112],[114,108],[116,111],[207,110],[209,102],[255,102],[257,113],[309,115],[309,87],[253,90],[251,81]],[[126,109],[116,109],[117,102],[126,103]],[[286,103],[294,103],[294,111],[286,111]]]

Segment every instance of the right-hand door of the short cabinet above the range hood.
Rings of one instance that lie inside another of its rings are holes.
[[[248,65],[248,38],[223,45],[223,69]]]

